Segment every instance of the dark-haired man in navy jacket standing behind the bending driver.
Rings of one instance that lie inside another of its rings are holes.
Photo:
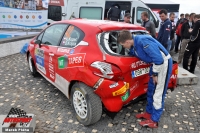
[[[159,15],[162,22],[160,30],[158,32],[157,40],[167,49],[168,40],[170,39],[172,23],[167,18],[167,10],[161,9]]]

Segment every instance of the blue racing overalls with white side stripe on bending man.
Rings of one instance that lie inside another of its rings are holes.
[[[151,114],[151,119],[158,122],[163,112],[165,94],[172,73],[172,58],[162,44],[149,35],[137,35],[133,39],[134,46],[129,54],[151,63],[149,75],[158,76],[156,85],[152,77],[149,79],[146,106],[146,112]]]

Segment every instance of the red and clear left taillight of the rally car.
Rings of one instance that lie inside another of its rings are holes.
[[[121,78],[121,70],[113,64],[95,61],[91,64],[91,67],[93,68],[93,73],[97,76],[107,79]]]

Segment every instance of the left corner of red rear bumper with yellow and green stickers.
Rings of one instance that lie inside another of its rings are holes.
[[[105,108],[110,112],[119,112],[131,95],[128,83],[106,79],[100,82],[95,93],[101,97]]]

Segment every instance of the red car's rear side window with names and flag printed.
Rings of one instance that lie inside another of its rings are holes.
[[[70,25],[62,38],[61,46],[69,48],[75,47],[81,40],[83,40],[84,36],[85,34],[82,30]]]

